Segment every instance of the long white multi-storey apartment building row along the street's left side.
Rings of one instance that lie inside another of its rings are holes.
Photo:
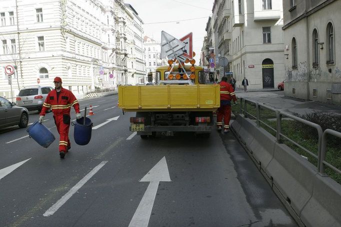
[[[37,78],[40,85],[53,85],[53,78],[61,76],[63,86],[81,97],[91,89],[115,87],[132,78],[130,74],[128,79],[131,70],[128,71],[127,59],[140,60],[141,54],[135,57],[130,53],[128,57],[126,46],[139,39],[135,42],[141,52],[141,32],[135,32],[132,37],[124,33],[124,29],[130,32],[127,26],[132,26],[127,25],[127,17],[135,21],[136,16],[122,0],[37,3],[3,0],[1,3],[0,95],[15,96],[20,87],[37,85]],[[138,25],[133,26],[141,30],[141,24],[138,20]],[[12,78],[12,95],[2,70],[8,64],[17,67]],[[138,70],[142,71],[143,67]]]

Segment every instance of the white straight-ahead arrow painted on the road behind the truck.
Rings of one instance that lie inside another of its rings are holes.
[[[129,223],[129,227],[148,226],[151,209],[154,204],[158,183],[160,181],[171,181],[165,157],[162,157],[161,160],[159,160],[157,164],[155,164],[155,166],[152,167],[140,180],[140,182],[150,183]]]

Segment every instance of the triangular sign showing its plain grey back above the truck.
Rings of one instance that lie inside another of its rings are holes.
[[[161,32],[161,58],[168,57],[172,59],[175,55],[179,56],[183,53],[182,48],[186,44],[179,39],[171,36],[165,31]]]

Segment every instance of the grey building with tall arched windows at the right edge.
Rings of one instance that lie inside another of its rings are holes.
[[[340,0],[283,1],[286,96],[341,103]]]

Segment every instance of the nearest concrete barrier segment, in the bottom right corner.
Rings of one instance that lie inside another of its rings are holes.
[[[328,176],[315,175],[312,197],[301,211],[307,226],[341,226],[340,184]]]

